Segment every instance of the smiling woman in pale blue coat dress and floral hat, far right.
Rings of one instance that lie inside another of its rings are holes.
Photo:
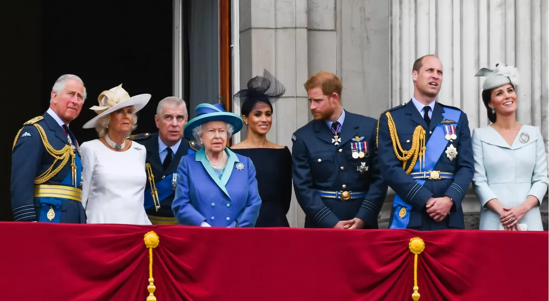
[[[543,231],[539,206],[547,192],[547,158],[538,127],[517,122],[517,69],[483,68],[482,98],[490,126],[473,130],[473,187],[482,206],[480,230]]]

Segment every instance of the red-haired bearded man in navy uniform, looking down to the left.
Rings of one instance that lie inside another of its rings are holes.
[[[377,121],[343,109],[333,73],[318,72],[304,86],[314,120],[292,136],[292,174],[305,228],[377,229],[387,192]]]

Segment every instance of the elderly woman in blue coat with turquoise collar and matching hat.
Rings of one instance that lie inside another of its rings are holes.
[[[221,104],[200,104],[195,111],[183,134],[203,148],[179,163],[173,215],[182,225],[253,227],[261,207],[254,165],[226,147],[242,118]]]

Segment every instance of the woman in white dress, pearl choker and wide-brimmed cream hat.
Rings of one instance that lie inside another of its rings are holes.
[[[144,202],[145,147],[126,137],[136,128],[136,112],[150,94],[130,97],[122,85],[103,91],[99,115],[84,124],[96,128],[99,139],[82,144],[82,205],[88,224],[150,225]]]

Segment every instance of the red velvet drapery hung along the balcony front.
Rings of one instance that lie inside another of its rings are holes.
[[[547,232],[0,223],[7,300],[547,300]]]

